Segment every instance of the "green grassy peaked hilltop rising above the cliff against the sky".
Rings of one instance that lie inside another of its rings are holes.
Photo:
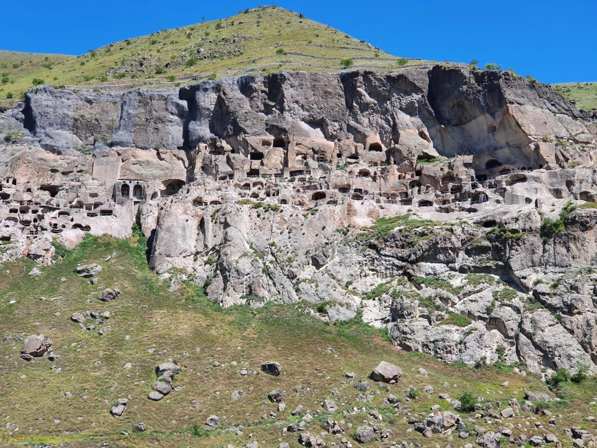
[[[47,57],[47,59],[46,59]],[[39,59],[39,60],[38,60]],[[13,62],[23,62],[19,69]],[[349,64],[352,60],[352,65]],[[245,10],[236,16],[165,29],[115,42],[76,57],[0,52],[0,101],[14,103],[33,87],[33,78],[54,85],[163,84],[192,78],[232,76],[285,69],[340,71],[347,66],[377,70],[422,63],[404,60],[324,24],[278,7]],[[32,61],[32,62],[29,62]],[[344,61],[344,62],[343,62]],[[342,64],[343,62],[343,64]],[[41,67],[41,65],[46,67]],[[173,78],[174,77],[174,78]],[[7,96],[13,95],[13,99]]]

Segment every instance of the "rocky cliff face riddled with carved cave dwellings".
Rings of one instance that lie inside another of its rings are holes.
[[[3,260],[138,223],[171,287],[223,306],[306,300],[446,361],[597,369],[596,131],[549,86],[435,66],[42,87],[0,134]]]

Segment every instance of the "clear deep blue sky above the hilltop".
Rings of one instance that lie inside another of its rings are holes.
[[[232,16],[263,0],[0,0],[0,49],[82,54]],[[596,0],[278,0],[404,57],[512,67],[542,82],[597,81]]]

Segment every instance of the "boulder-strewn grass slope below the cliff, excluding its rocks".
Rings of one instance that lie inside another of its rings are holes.
[[[467,367],[448,366],[433,358],[399,351],[386,342],[379,330],[359,320],[331,326],[305,314],[306,304],[269,304],[259,309],[235,306],[223,310],[202,293],[201,287],[183,284],[170,292],[159,284],[159,278],[148,268],[144,259],[144,240],[137,232],[131,240],[109,237],[86,238],[69,251],[64,259],[52,266],[40,268],[38,278],[27,275],[34,264],[30,260],[2,266],[0,271],[0,445],[59,444],[69,447],[94,446],[233,446],[241,447],[250,441],[266,441],[265,446],[277,446],[286,441],[297,446],[298,434],[281,438],[281,429],[300,417],[290,415],[298,404],[313,411],[321,410],[320,403],[330,398],[338,404],[334,415],[315,413],[307,425],[311,434],[325,431],[325,421],[332,417],[343,421],[344,437],[352,440],[356,426],[371,419],[368,412],[377,410],[383,416],[380,426],[392,429],[390,440],[407,440],[432,446],[447,443],[447,436],[434,435],[425,439],[411,428],[408,417],[384,404],[392,393],[414,413],[427,415],[430,406],[440,404],[450,410],[438,394],[447,392],[456,398],[463,392],[484,397],[497,410],[506,407],[512,397],[524,401],[524,389],[546,391],[543,383],[533,375],[520,376],[511,369],[485,367],[475,371]],[[111,257],[106,261],[107,257]],[[87,285],[76,275],[77,263],[98,262],[103,266],[97,285]],[[62,281],[61,279],[64,280]],[[96,299],[99,287],[116,287],[122,295],[114,302]],[[60,297],[39,300],[40,296]],[[15,300],[16,303],[10,303]],[[111,327],[103,336],[79,329],[70,321],[73,312],[85,310],[110,311],[107,324]],[[19,357],[22,342],[10,339],[13,335],[49,336],[54,341],[56,361],[42,358],[27,363]],[[332,348],[330,350],[328,348]],[[172,392],[161,401],[146,398],[155,381],[155,366],[172,360],[183,366]],[[263,361],[276,360],[284,373],[278,378],[259,373]],[[371,382],[370,403],[356,397],[361,391],[353,388],[355,380],[345,372],[355,372],[356,380],[366,379],[381,360],[401,366],[404,376],[398,385],[377,385]],[[100,361],[101,364],[97,364]],[[217,361],[220,366],[214,367]],[[125,363],[131,363],[125,369]],[[52,370],[56,366],[60,372]],[[429,373],[418,372],[422,367]],[[241,369],[249,374],[242,376]],[[251,372],[257,371],[256,375]],[[500,383],[509,381],[508,386]],[[444,382],[450,386],[444,387]],[[423,391],[425,385],[435,388],[432,395]],[[299,392],[294,392],[296,386]],[[405,398],[405,389],[418,390]],[[558,428],[549,428],[546,416],[537,416],[549,431],[555,432],[564,445],[570,440],[561,429],[584,421],[590,414],[589,402],[597,395],[594,379],[577,386],[565,383],[560,391],[564,400],[552,404],[558,418]],[[266,394],[272,389],[288,391],[287,408],[278,412]],[[232,401],[236,390],[248,396]],[[336,393],[333,391],[336,390]],[[64,393],[70,392],[72,398]],[[130,395],[122,418],[109,414],[110,405],[118,398]],[[192,406],[192,400],[200,403]],[[276,413],[276,418],[263,420],[262,415]],[[460,413],[472,417],[473,413]],[[223,424],[207,430],[205,419],[220,416]],[[251,422],[247,422],[250,419]],[[147,431],[134,433],[132,425],[144,422]],[[531,424],[525,426],[528,437],[536,432]],[[595,422],[584,421],[589,432],[595,433]],[[247,425],[236,434],[238,425]],[[480,425],[497,430],[498,422]],[[232,430],[226,429],[236,425]],[[351,428],[352,425],[352,428]],[[467,423],[472,429],[472,425]],[[18,428],[18,430],[17,430]],[[121,431],[131,435],[121,435]],[[520,432],[516,431],[516,432]],[[251,434],[251,436],[250,436]],[[337,436],[340,437],[340,436]],[[474,436],[472,436],[473,438]],[[324,437],[327,446],[339,442],[332,435]],[[471,439],[467,440],[470,441]],[[464,441],[463,441],[464,443]],[[353,441],[353,446],[356,446]],[[368,446],[387,446],[375,442]]]

